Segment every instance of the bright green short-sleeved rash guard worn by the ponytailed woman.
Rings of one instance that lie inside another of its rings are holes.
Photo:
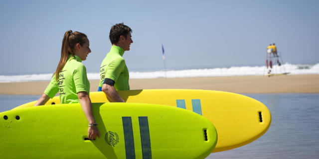
[[[59,80],[56,81],[54,75],[44,90],[44,94],[50,98],[59,92],[62,104],[79,103],[77,93],[80,91],[90,93],[90,82],[86,75],[86,68],[78,56],[74,55],[74,57],[69,55],[68,61],[59,74]]]

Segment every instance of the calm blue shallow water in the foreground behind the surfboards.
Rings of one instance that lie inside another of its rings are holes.
[[[256,141],[206,159],[319,159],[319,93],[243,94],[272,114],[269,130]],[[0,95],[0,112],[39,95]]]

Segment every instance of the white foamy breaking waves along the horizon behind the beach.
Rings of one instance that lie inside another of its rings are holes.
[[[186,77],[218,77],[218,76],[263,76],[267,74],[266,66],[242,66],[228,68],[203,68],[187,70],[164,70],[149,72],[131,72],[130,79],[186,78]],[[291,73],[291,75],[319,74],[319,64],[293,65],[286,63],[274,66],[272,73]],[[100,79],[99,72],[88,73],[88,79]],[[20,82],[50,80],[52,73],[32,75],[0,75],[0,82]]]

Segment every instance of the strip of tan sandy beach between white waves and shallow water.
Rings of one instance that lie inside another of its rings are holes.
[[[97,91],[99,80],[90,80]],[[0,94],[40,95],[49,81],[0,83]],[[319,75],[130,79],[131,89],[206,89],[235,93],[319,93]]]

